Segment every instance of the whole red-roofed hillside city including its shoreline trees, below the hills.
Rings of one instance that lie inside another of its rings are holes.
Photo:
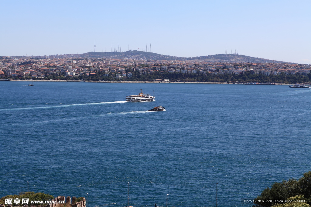
[[[0,56],[0,79],[171,82],[265,82],[267,80],[266,82],[291,83],[293,81],[310,82],[311,78],[311,65],[285,62],[215,62],[144,60],[142,58],[135,60],[116,59],[115,56],[102,58],[40,57]],[[286,76],[290,76],[290,79],[296,78],[289,81],[289,77]]]

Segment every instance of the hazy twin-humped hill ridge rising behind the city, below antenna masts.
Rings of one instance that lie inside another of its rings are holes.
[[[217,54],[199,57],[177,57],[161,55],[154,52],[142,52],[137,50],[126,52],[87,52],[76,55],[81,58],[112,58],[112,59],[133,59],[133,60],[184,60],[184,61],[211,61],[211,62],[256,62],[256,63],[289,63],[284,61],[273,61],[269,59],[251,57],[239,54]]]

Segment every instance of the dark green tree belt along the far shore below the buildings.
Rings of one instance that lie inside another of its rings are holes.
[[[240,83],[306,83],[311,82],[311,74],[308,75],[285,75],[283,72],[278,75],[263,75],[263,74],[251,74],[250,72],[244,72],[242,74],[213,74],[213,73],[169,73],[169,72],[160,72],[154,71],[152,74],[140,74],[140,72],[132,71],[131,69],[126,69],[125,72],[132,72],[131,78],[118,79],[115,75],[104,76],[103,71],[93,71],[95,75],[86,76],[83,75],[75,76],[75,77],[65,77],[64,73],[56,73],[56,74],[45,74],[44,78],[40,79],[60,79],[60,80],[93,80],[93,81],[114,81],[114,80],[122,80],[122,81],[153,81],[155,79],[168,79],[170,81],[191,81],[191,82],[221,82],[221,83],[229,83],[229,82],[240,82]],[[16,78],[18,79],[18,78]],[[20,79],[36,79],[31,78],[31,76],[23,77]]]

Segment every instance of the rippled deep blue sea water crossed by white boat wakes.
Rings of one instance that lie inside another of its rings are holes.
[[[251,206],[311,170],[311,89],[0,82],[0,197],[29,190],[89,206]],[[155,91],[156,101],[125,96]],[[164,112],[148,112],[163,105]]]

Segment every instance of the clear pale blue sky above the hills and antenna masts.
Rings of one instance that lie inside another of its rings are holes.
[[[311,63],[310,0],[1,1],[0,55],[140,50]]]

